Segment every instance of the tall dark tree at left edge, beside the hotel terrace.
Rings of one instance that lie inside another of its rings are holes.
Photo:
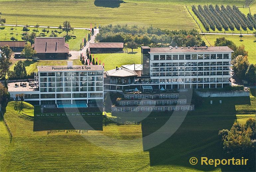
[[[0,78],[6,79],[6,74],[9,72],[9,67],[11,66],[10,58],[12,50],[9,45],[5,45],[0,47],[1,49],[1,57],[0,58]]]

